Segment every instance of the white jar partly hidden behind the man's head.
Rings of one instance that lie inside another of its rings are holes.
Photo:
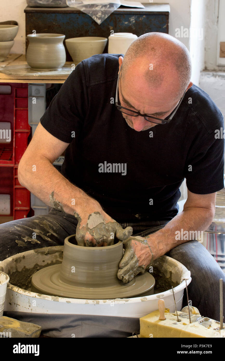
[[[137,39],[131,32],[115,32],[109,36],[108,53],[125,54],[130,44]]]

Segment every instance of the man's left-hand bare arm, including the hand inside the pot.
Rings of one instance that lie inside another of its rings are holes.
[[[68,145],[39,123],[18,166],[18,181],[45,204],[77,217],[78,244],[109,245],[113,244],[114,236],[127,239],[133,232],[131,227],[122,229],[98,201],[70,183],[52,165]]]

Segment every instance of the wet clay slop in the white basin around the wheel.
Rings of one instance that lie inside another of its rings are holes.
[[[44,247],[34,249],[33,251],[19,253],[18,255],[13,256],[13,258],[16,258],[10,262],[10,266],[1,269],[10,277],[8,288],[16,292],[18,292],[18,290],[21,288],[25,290],[24,292],[30,292],[32,275],[37,270],[46,268],[48,266],[56,264],[60,265],[63,258],[63,249],[63,246]],[[178,264],[179,262],[176,260],[171,260],[166,256],[161,256],[153,262],[152,275],[156,282],[154,287],[154,294],[159,293],[158,296],[163,297],[163,292],[171,290],[172,286],[176,287],[182,282],[182,271],[179,271]],[[50,297],[53,301],[57,300],[57,296],[44,296],[42,293],[38,293],[38,295],[42,298],[49,299]],[[143,297],[143,295],[141,297],[141,301],[147,300],[147,298]],[[123,298],[122,300],[127,301],[129,298]],[[116,298],[115,300],[121,299]],[[92,301],[87,299],[87,303],[90,302]]]

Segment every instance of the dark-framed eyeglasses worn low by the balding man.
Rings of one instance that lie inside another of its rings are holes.
[[[183,93],[183,96],[179,100],[179,103],[176,106],[176,108],[174,109],[173,113],[169,114],[169,119],[160,119],[160,118],[156,118],[156,117],[147,116],[146,114],[144,114],[144,115],[140,114],[139,112],[135,112],[134,110],[124,108],[124,106],[118,105],[118,84],[119,84],[119,77],[120,77],[121,69],[122,69],[122,65],[120,67],[120,71],[119,71],[118,79],[117,79],[117,86],[116,86],[116,101],[115,101],[115,104],[116,104],[117,109],[120,110],[122,113],[130,115],[132,117],[138,117],[138,116],[144,117],[145,120],[147,120],[148,122],[151,122],[151,123],[156,123],[156,124],[169,123],[170,120],[173,118],[174,114],[176,113],[177,109],[179,108],[179,106],[180,106],[180,104],[181,104],[181,102],[183,100],[183,97],[185,96],[186,91]]]

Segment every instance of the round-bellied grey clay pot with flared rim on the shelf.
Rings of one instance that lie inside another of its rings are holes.
[[[63,34],[27,35],[27,64],[34,70],[59,70],[66,62]]]

